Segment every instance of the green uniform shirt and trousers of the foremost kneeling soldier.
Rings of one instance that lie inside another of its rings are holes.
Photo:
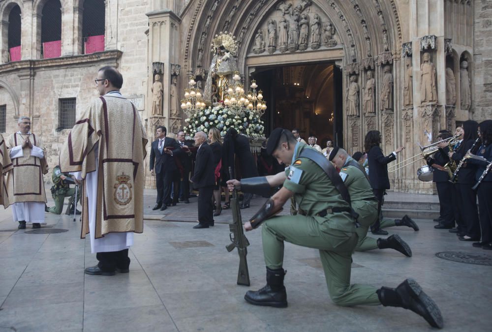
[[[283,183],[285,188],[294,192],[300,214],[275,216],[263,223],[266,266],[272,270],[282,268],[284,241],[319,249],[328,292],[335,303],[380,304],[375,287],[350,284],[352,252],[358,240],[354,219],[349,212],[329,210],[349,208],[349,205],[316,163],[298,158],[303,149],[311,148],[300,143],[296,145]],[[328,214],[320,216],[323,211],[328,211]]]

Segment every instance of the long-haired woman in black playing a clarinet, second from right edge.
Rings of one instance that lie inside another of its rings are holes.
[[[449,152],[448,156],[453,158],[457,164],[460,163],[463,156],[470,150],[475,143],[478,135],[478,123],[476,121],[464,121],[463,125],[463,141],[459,148],[454,152]],[[480,144],[475,145],[474,151],[480,147]],[[464,233],[458,233],[461,241],[480,241],[480,222],[478,219],[477,209],[477,192],[472,189],[475,184],[475,173],[477,167],[473,163],[464,162],[458,172],[458,191],[460,193],[460,211],[461,218],[466,224]]]

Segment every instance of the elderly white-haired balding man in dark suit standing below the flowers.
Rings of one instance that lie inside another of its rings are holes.
[[[198,225],[193,228],[209,228],[209,226],[214,226],[212,207],[215,186],[214,153],[207,144],[207,134],[203,131],[195,134],[195,146],[198,147],[198,152],[196,153],[195,173],[191,182],[198,189]]]

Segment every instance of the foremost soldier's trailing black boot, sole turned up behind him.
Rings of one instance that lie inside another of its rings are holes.
[[[406,279],[397,288],[381,287],[376,291],[384,306],[397,306],[410,309],[434,328],[442,329],[444,323],[441,311],[434,301],[422,290],[417,281]]]

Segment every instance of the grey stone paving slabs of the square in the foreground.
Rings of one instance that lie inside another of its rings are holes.
[[[243,219],[263,201],[254,199]],[[152,195],[146,196],[146,207],[153,203]],[[183,219],[196,220],[196,198],[178,207],[164,212],[173,213],[173,219],[183,214]],[[30,234],[30,225],[16,229],[10,208],[0,209],[0,331],[430,330],[424,319],[401,308],[334,305],[317,250],[290,243],[284,264],[289,306],[249,305],[243,299],[246,290],[265,284],[259,230],[246,233],[250,287],[236,285],[239,258],[236,250],[225,250],[229,227],[223,223],[194,230],[191,223],[146,220],[144,233],[135,235],[130,249],[130,273],[93,276],[84,274],[97,261],[89,239],[80,240],[78,221],[47,213],[47,225]],[[146,215],[152,212],[146,208]],[[154,213],[157,219],[160,215]],[[230,211],[220,218],[230,219]],[[444,331],[490,331],[492,266],[435,254],[459,251],[485,260],[492,253],[433,229],[431,220],[416,221],[419,232],[388,229],[410,244],[413,257],[390,249],[355,253],[352,282],[395,287],[411,276],[440,306]],[[55,229],[66,231],[42,234]]]

